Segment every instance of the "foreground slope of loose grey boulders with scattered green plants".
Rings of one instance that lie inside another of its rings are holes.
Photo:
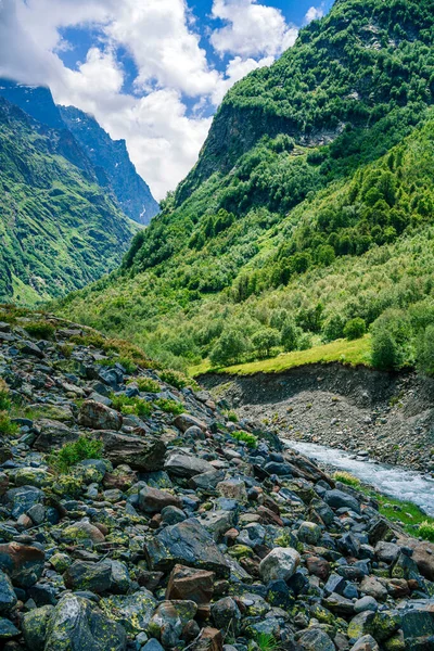
[[[2,649],[434,649],[434,546],[206,392],[133,370],[79,327],[52,320],[38,341],[11,321]],[[82,442],[102,454],[73,463]]]

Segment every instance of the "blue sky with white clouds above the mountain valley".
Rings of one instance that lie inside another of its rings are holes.
[[[229,88],[332,3],[0,0],[0,76],[94,115],[162,200],[195,164]]]

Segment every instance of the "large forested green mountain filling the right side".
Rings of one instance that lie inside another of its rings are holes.
[[[420,317],[434,315],[433,9],[337,0],[229,91],[196,166],[122,268],[61,311],[174,366],[374,323],[384,365],[413,363],[434,328]]]

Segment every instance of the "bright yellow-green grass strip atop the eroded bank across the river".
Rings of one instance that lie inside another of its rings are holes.
[[[233,375],[252,375],[254,373],[279,373],[289,369],[307,366],[310,363],[330,363],[339,361],[348,366],[371,366],[371,337],[369,334],[362,339],[348,342],[347,340],[336,340],[331,344],[314,346],[307,350],[294,350],[275,357],[273,359],[263,359],[248,363],[240,363],[220,369],[213,369],[209,361],[191,368],[193,376],[202,375],[207,372],[231,373]]]

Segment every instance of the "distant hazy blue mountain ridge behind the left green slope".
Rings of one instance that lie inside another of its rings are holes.
[[[94,117],[74,106],[60,106],[60,114],[97,173],[105,175],[124,213],[130,219],[148,225],[159,212],[159,206],[137,174],[125,140],[112,140]]]

